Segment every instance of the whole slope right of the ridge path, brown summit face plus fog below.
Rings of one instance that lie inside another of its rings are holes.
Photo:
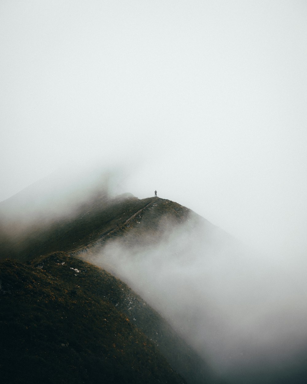
[[[276,311],[258,256],[186,207],[153,199],[74,254],[128,283],[225,382],[306,381],[304,310]]]

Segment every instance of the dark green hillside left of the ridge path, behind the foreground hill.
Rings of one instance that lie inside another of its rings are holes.
[[[31,214],[26,225],[22,217],[3,219],[0,216],[0,258],[13,258],[19,261],[46,255],[56,251],[68,251],[84,247],[125,225],[125,222],[152,199],[139,200],[132,195],[107,198],[96,194],[83,204],[75,207],[70,214],[63,216]],[[0,205],[0,212],[1,212]],[[23,212],[21,211],[20,216]],[[33,218],[31,219],[31,215]]]

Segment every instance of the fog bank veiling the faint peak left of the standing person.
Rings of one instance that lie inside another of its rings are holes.
[[[64,231],[64,223],[79,222],[88,210],[118,202],[122,174],[115,163],[104,169],[63,167],[0,202],[0,259],[24,260],[46,233],[55,231],[51,237],[60,242],[65,235],[54,233]],[[46,252],[42,244],[38,247],[39,253]]]

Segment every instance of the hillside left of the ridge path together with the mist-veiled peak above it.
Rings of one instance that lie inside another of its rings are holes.
[[[147,204],[114,193],[114,174],[54,174],[0,202],[1,258],[28,260],[96,240]]]

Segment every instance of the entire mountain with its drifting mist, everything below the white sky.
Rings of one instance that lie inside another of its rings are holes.
[[[306,382],[303,312],[248,247],[167,199],[37,187],[0,203],[8,382]]]

